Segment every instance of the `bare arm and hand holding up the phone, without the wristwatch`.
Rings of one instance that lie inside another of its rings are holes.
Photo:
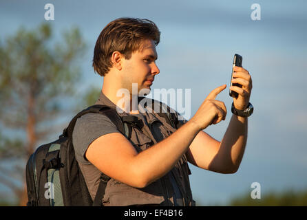
[[[231,87],[238,93],[233,98],[236,109],[245,109],[253,87],[251,76],[243,67],[234,67],[233,83],[242,87]],[[220,102],[220,107],[224,107]],[[187,151],[191,164],[218,173],[235,173],[240,166],[247,140],[247,118],[233,115],[221,142],[200,131]]]

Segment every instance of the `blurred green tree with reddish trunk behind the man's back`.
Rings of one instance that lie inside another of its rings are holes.
[[[23,181],[24,162],[37,143],[62,131],[56,119],[63,115],[63,100],[72,100],[81,78],[85,42],[78,28],[63,32],[59,41],[52,33],[49,23],[43,23],[0,39],[0,184],[17,197],[23,197],[23,189],[10,179]]]

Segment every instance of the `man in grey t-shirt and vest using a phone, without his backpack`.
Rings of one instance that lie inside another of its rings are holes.
[[[96,41],[93,67],[104,76],[96,104],[121,109],[119,115],[135,115],[144,124],[132,129],[128,140],[105,115],[89,113],[77,120],[73,133],[76,159],[93,199],[100,173],[111,178],[103,206],[193,206],[187,162],[218,173],[235,173],[242,160],[246,117],[233,115],[221,142],[202,131],[225,120],[224,102],[215,98],[226,85],[213,89],[195,115],[178,129],[155,111],[131,111],[133,83],[138,92],[149,90],[160,73],[155,63],[159,41],[156,24],[131,18],[110,22]],[[242,85],[230,88],[238,94],[233,104],[240,111],[248,107],[251,76],[246,69],[235,67],[234,77],[233,83]],[[130,94],[124,104],[118,96],[123,89]]]

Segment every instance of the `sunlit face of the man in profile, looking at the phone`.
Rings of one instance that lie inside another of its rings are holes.
[[[132,83],[138,84],[140,89],[150,89],[154,77],[159,74],[155,61],[158,58],[154,41],[145,40],[141,50],[131,54],[131,58],[123,60],[123,87],[129,89],[132,94]]]

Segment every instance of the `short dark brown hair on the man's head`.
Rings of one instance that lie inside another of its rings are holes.
[[[105,76],[112,67],[110,57],[114,51],[124,55],[125,59],[138,50],[146,39],[160,42],[160,31],[156,24],[148,19],[120,18],[103,28],[94,49],[93,67],[100,76]]]

